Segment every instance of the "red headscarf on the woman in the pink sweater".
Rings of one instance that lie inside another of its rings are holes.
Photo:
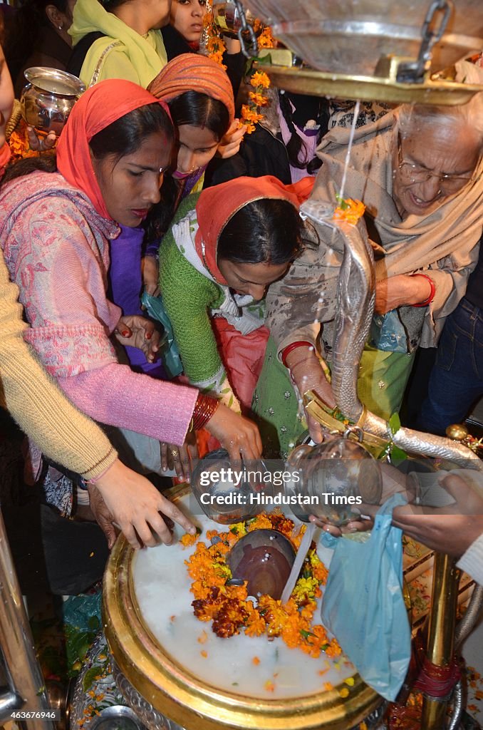
[[[169,115],[165,102],[155,99],[137,84],[121,79],[101,81],[82,94],[61,132],[57,145],[58,171],[89,197],[103,218],[111,220],[90,161],[89,142],[101,129],[128,112],[156,102]]]

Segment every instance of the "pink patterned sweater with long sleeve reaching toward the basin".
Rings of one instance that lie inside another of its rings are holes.
[[[120,365],[109,339],[120,309],[106,297],[108,240],[118,234],[61,174],[1,190],[0,244],[31,324],[25,339],[47,371],[99,422],[182,444],[198,391]]]

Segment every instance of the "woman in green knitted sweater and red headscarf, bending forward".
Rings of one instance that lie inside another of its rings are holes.
[[[313,178],[239,177],[182,202],[160,249],[160,283],[185,374],[233,410],[250,409],[263,364],[268,285],[309,235],[298,207]]]

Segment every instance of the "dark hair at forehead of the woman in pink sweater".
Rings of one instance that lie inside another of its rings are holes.
[[[161,104],[147,104],[128,112],[94,134],[89,147],[97,160],[115,155],[118,162],[125,155],[136,152],[144,137],[156,132],[163,132],[169,144],[174,142],[173,125]]]

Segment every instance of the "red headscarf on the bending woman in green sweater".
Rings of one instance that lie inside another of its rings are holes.
[[[221,231],[228,220],[247,203],[263,198],[288,200],[298,208],[308,199],[314,186],[314,177],[303,177],[298,183],[284,185],[272,175],[264,177],[236,177],[228,183],[206,188],[196,204],[195,247],[212,277],[225,285],[226,281],[217,266],[217,247]]]

